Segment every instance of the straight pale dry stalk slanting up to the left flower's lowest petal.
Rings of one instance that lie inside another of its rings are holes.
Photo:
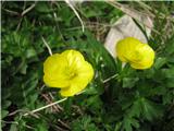
[[[44,109],[46,109],[46,108],[48,108],[48,107],[51,107],[51,106],[53,106],[53,105],[60,104],[60,103],[62,103],[62,102],[64,102],[64,100],[66,100],[66,99],[67,99],[67,98],[60,99],[60,100],[54,102],[54,103],[52,103],[52,104],[49,104],[49,105],[47,105],[47,106],[37,108],[37,109],[32,110],[32,111],[29,111],[29,112],[26,112],[26,114],[24,114],[23,116],[28,116],[28,115],[30,115],[30,114],[35,114],[35,112],[37,112],[37,111],[44,110]]]

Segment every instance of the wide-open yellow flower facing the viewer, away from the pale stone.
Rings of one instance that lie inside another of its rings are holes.
[[[65,50],[47,58],[44,63],[44,82],[61,88],[62,96],[74,96],[94,78],[94,69],[76,50]]]

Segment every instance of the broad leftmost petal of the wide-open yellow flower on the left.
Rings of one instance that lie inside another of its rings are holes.
[[[70,85],[64,71],[67,61],[61,55],[52,55],[44,63],[44,82],[51,87],[67,87]]]

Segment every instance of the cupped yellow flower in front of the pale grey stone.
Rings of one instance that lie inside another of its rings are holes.
[[[134,69],[148,69],[154,61],[153,49],[133,37],[117,41],[116,53],[121,61],[128,62]]]

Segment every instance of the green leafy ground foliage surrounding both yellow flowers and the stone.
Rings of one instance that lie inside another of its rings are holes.
[[[134,2],[121,3],[135,5]],[[76,5],[85,23],[83,33],[78,19],[63,1],[3,1],[2,130],[173,131],[174,24],[169,16],[174,4],[144,3],[156,9],[156,32],[152,31],[148,39],[156,50],[156,61],[151,69],[141,71],[128,64],[122,68],[122,62],[103,47],[110,27],[107,25],[124,14],[107,2]],[[139,2],[136,8],[142,10],[145,4]],[[24,116],[61,99],[58,88],[46,87],[42,82],[42,63],[49,52],[41,37],[53,53],[72,48],[79,50],[92,64],[95,79],[83,94],[70,97],[59,106]]]

